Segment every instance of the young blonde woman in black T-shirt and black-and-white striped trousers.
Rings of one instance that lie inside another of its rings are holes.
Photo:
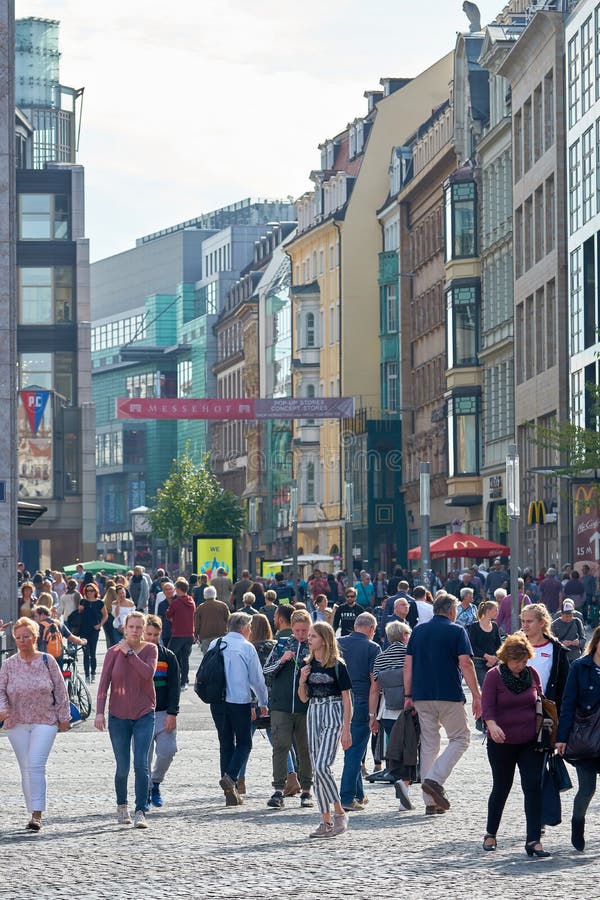
[[[314,792],[321,813],[321,823],[310,836],[335,837],[348,828],[348,819],[342,809],[331,766],[340,735],[344,750],[352,744],[351,683],[346,665],[339,657],[331,625],[327,622],[315,622],[308,632],[308,647],[310,653],[300,672],[298,696],[303,703],[310,701],[306,719],[308,748],[313,767]]]

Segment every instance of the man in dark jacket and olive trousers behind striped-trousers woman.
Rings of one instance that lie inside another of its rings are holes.
[[[288,624],[287,605],[278,606],[275,622]],[[291,632],[282,628],[277,632],[277,644],[271,651],[264,666],[267,682],[271,682],[271,740],[273,742],[273,787],[275,792],[267,801],[267,806],[281,809],[284,804],[284,788],[288,782],[287,758],[295,742],[298,753],[298,778],[300,781],[300,806],[313,806],[310,789],[312,786],[312,766],[308,752],[306,712],[308,704],[298,697],[298,681],[304,659],[308,654],[308,631],[311,626],[310,613],[298,609],[292,613]],[[294,785],[298,778],[294,777]],[[289,776],[291,780],[291,776]],[[297,787],[296,787],[297,791]]]

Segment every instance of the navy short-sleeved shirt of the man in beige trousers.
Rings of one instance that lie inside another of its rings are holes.
[[[433,616],[417,625],[406,648],[412,657],[412,698],[464,703],[459,656],[472,656],[471,642],[461,625]]]

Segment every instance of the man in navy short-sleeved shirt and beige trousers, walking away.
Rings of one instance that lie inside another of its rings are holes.
[[[464,676],[473,697],[473,715],[481,715],[481,692],[464,628],[455,624],[456,597],[439,594],[433,618],[410,636],[404,661],[404,708],[412,706],[421,728],[421,776],[426,815],[450,808],[443,784],[471,738],[465,710]],[[448,745],[440,754],[440,728]],[[438,755],[439,754],[439,755]]]

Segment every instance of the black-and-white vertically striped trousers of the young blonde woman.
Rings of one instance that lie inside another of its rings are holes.
[[[341,697],[313,698],[308,705],[308,751],[313,767],[313,788],[321,813],[329,812],[331,804],[340,802],[331,766],[340,741],[343,717]]]

